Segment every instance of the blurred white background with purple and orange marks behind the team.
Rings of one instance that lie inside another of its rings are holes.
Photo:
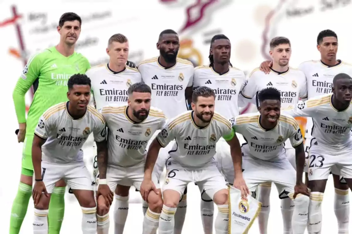
[[[6,112],[1,115],[4,123],[4,134],[0,136],[4,179],[0,197],[4,204],[0,232],[8,232],[21,165],[22,143],[18,144],[13,134],[18,124],[12,91],[27,58],[38,50],[58,43],[56,27],[64,12],[75,12],[81,16],[81,35],[76,51],[86,56],[92,66],[108,61],[105,49],[109,37],[115,33],[127,36],[130,43],[129,60],[138,63],[158,55],[158,35],[170,28],[180,36],[178,56],[192,61],[195,66],[208,64],[212,36],[225,34],[231,40],[233,66],[251,72],[262,61],[270,59],[269,41],[274,36],[285,36],[291,40],[293,52],[290,66],[297,67],[307,60],[319,60],[316,37],[324,29],[331,29],[338,35],[338,59],[351,61],[351,10],[351,0],[0,1],[0,95]],[[30,105],[30,91],[26,102]],[[251,106],[245,111],[255,111],[255,107]],[[301,127],[304,128],[304,120]],[[188,194],[184,233],[201,233],[199,192],[192,187]],[[73,195],[66,196],[62,233],[80,233],[80,225],[77,225],[81,219],[80,207]],[[333,222],[323,222],[323,230],[326,230],[323,233],[337,229],[333,196],[331,180],[325,193],[323,215],[324,220],[332,218]],[[271,201],[269,230],[279,233],[282,218],[275,188],[272,189]],[[32,232],[31,204],[21,233]],[[77,215],[79,218],[76,218]],[[142,219],[141,205],[131,204],[125,233],[141,233]],[[136,223],[140,223],[140,227]],[[257,223],[249,233],[258,233]]]

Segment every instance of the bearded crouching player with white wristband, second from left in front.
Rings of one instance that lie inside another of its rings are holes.
[[[97,176],[97,216],[100,220],[98,234],[109,232],[109,207],[112,203],[111,191],[117,185],[138,190],[143,181],[146,146],[152,135],[161,129],[166,117],[162,111],[150,106],[151,89],[144,83],[134,83],[128,88],[127,105],[108,104],[101,109],[108,127],[106,158],[98,155],[99,174]],[[155,186],[148,197],[147,214],[160,216],[162,209],[161,191],[158,179],[153,177]],[[116,198],[116,194],[115,194]],[[117,198],[116,200],[118,200]],[[115,207],[115,210],[117,208]],[[127,208],[128,209],[128,208]],[[122,221],[124,221],[122,223]],[[115,233],[123,233],[126,219],[121,220],[114,211]],[[158,222],[144,219],[143,233],[156,232]]]

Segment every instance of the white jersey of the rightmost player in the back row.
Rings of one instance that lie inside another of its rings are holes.
[[[308,99],[331,93],[332,80],[339,73],[346,73],[352,77],[352,65],[339,60],[335,66],[328,66],[320,60],[302,62],[298,69],[307,78]],[[313,121],[307,118],[305,138],[312,137]]]

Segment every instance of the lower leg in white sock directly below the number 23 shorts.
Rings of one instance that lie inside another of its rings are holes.
[[[308,222],[309,229],[312,233],[321,233],[321,203],[325,192],[327,179],[325,180],[311,180],[309,181],[310,186],[310,201],[309,201],[309,213]],[[294,225],[294,223],[293,223]]]

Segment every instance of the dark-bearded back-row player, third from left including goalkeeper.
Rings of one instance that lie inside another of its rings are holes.
[[[189,109],[193,92],[194,66],[188,60],[177,58],[180,40],[174,30],[162,31],[156,46],[160,53],[159,56],[140,62],[138,70],[142,74],[143,82],[151,87],[153,106],[162,109],[167,118],[174,118]],[[157,133],[152,139],[156,135]],[[161,150],[155,167],[157,175],[162,174],[165,160],[172,145],[173,142]],[[181,234],[187,209],[186,193],[181,198],[180,209],[175,215],[174,234]],[[157,220],[148,215],[145,219]]]

